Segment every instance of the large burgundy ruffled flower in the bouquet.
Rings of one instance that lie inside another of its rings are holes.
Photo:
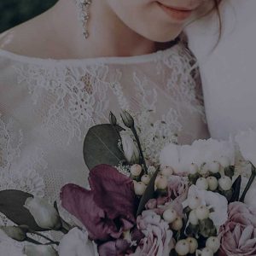
[[[89,175],[90,190],[74,184],[61,189],[61,204],[84,224],[95,241],[119,239],[130,230],[136,196],[131,178],[108,165],[96,166]]]

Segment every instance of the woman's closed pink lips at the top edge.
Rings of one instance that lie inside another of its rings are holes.
[[[167,6],[163,3],[159,3],[159,6],[161,9],[164,10],[166,15],[171,16],[172,19],[174,20],[187,20],[190,15],[192,15],[194,9],[187,9],[183,7],[173,7],[173,6]]]

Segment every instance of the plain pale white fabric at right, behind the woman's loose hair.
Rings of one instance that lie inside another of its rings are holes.
[[[218,17],[195,21],[187,29],[189,48],[199,60],[207,123],[213,138],[256,128],[256,1],[223,0],[223,34]]]

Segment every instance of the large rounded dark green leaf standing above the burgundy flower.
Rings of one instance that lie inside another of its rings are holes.
[[[118,147],[119,131],[123,128],[104,124],[90,128],[84,139],[84,161],[91,170],[95,166],[106,164],[118,166],[125,160],[125,155]]]

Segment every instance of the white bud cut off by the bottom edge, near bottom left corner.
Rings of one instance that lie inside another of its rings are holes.
[[[24,253],[26,256],[58,256],[53,247],[45,245],[26,245]]]

